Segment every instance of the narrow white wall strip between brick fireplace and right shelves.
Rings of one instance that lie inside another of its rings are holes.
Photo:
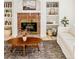
[[[46,0],[41,0],[41,37],[46,36]]]

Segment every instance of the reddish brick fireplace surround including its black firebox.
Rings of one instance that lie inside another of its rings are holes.
[[[18,13],[18,34],[40,35],[40,13]]]

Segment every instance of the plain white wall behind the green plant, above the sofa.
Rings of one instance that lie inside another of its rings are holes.
[[[75,26],[75,0],[59,0],[59,20],[64,16],[69,19],[69,26]]]

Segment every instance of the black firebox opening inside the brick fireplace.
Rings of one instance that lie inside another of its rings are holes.
[[[30,32],[37,32],[37,23],[36,22],[23,22],[21,23],[21,30],[27,30]]]

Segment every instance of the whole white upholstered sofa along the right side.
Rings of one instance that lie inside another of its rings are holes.
[[[58,28],[57,43],[66,56],[66,59],[74,59],[75,36],[71,28]]]

